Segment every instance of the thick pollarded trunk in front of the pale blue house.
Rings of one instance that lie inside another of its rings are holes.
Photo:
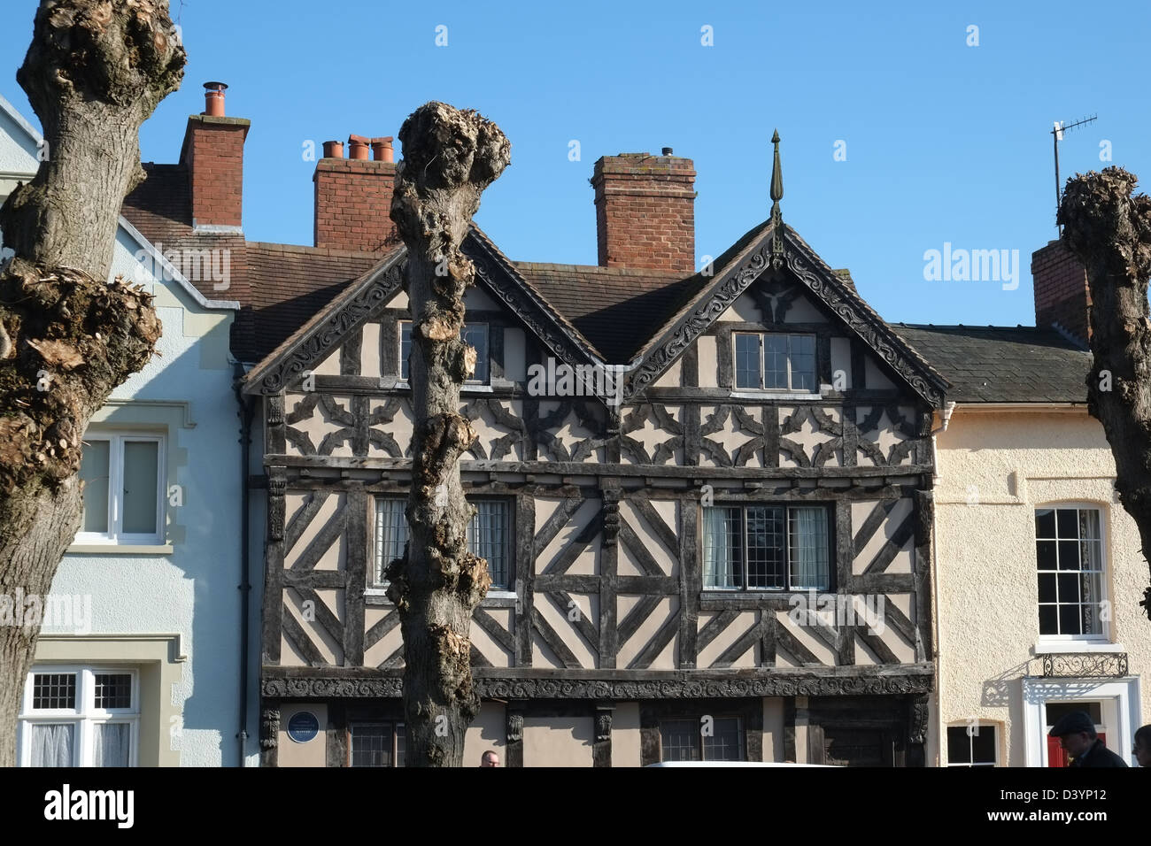
[[[16,74],[46,144],[0,207],[16,253],[0,270],[0,767],[15,762],[43,597],[79,528],[81,437],[160,337],[151,296],[107,276],[144,178],[139,127],[183,76],[175,32],[167,0],[41,0]]]

